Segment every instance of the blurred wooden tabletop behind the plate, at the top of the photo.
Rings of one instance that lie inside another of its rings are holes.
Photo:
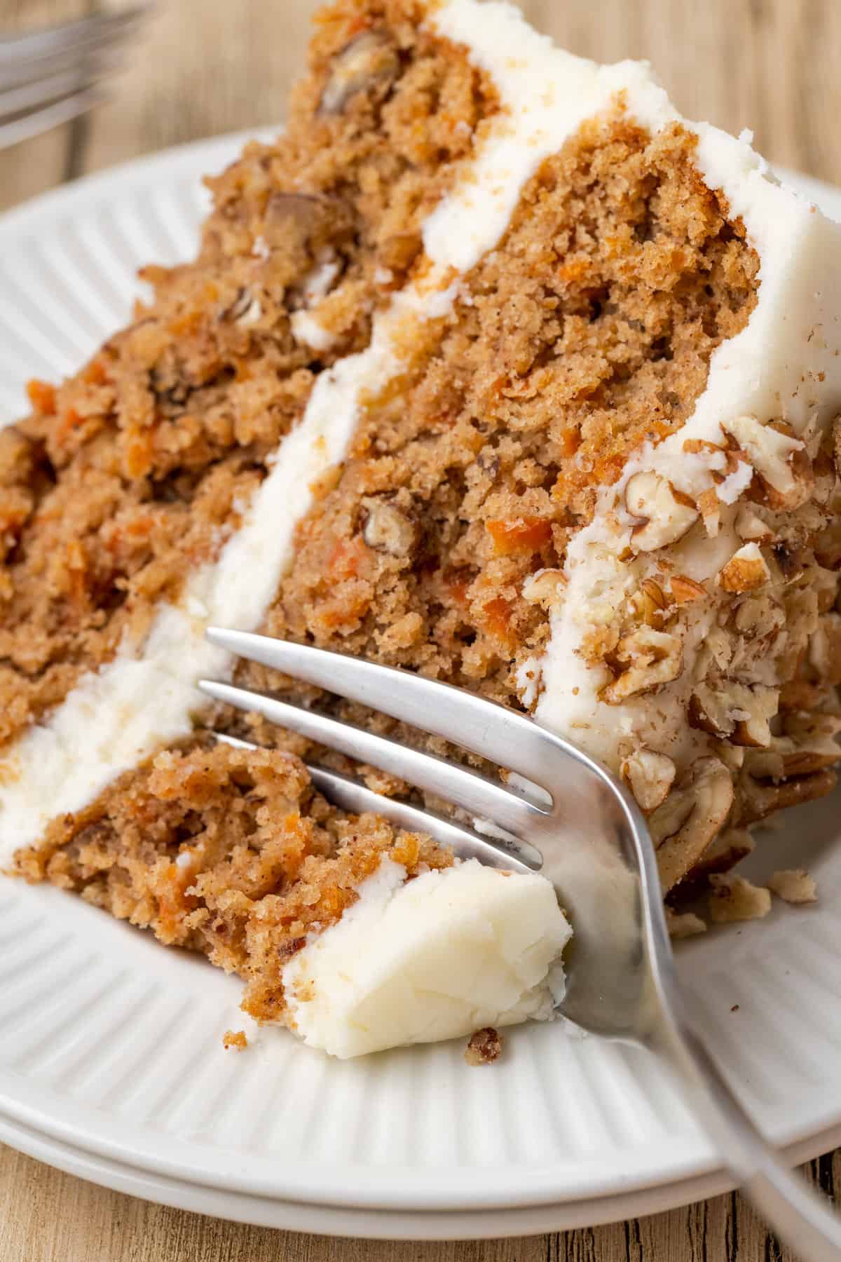
[[[282,119],[320,0],[158,0],[108,103],[0,151],[0,208],[166,145]],[[521,0],[572,52],[647,57],[688,117],[751,127],[777,163],[841,182],[841,0]],[[0,34],[120,8],[0,0]]]

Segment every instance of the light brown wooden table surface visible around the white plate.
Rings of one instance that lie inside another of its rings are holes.
[[[841,183],[841,0],[523,0],[538,25],[601,61],[647,57],[681,110],[753,127],[768,158]],[[0,0],[0,29],[101,8]],[[0,154],[0,207],[197,136],[282,116],[315,0],[158,0],[112,103]],[[808,1175],[841,1188],[841,1151]],[[561,1235],[461,1244],[330,1241],[149,1205],[0,1146],[1,1262],[772,1262],[750,1206],[720,1196]]]

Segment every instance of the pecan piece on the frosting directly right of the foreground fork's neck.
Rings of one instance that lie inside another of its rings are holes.
[[[664,890],[701,858],[733,805],[733,779],[719,758],[697,758],[657,810],[648,827],[657,848]]]

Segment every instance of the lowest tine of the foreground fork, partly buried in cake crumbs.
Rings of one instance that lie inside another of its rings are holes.
[[[237,737],[226,736],[223,732],[214,732],[213,736],[223,745],[232,745],[240,750],[258,748],[250,741],[241,741]],[[478,859],[485,867],[527,873],[536,872],[541,867],[541,857],[532,847],[526,851],[526,848],[517,849],[513,842],[511,846],[506,846],[502,840],[488,840],[464,824],[456,824],[455,820],[438,815],[435,811],[411,806],[397,798],[386,798],[383,794],[368,789],[359,780],[339,775],[338,771],[328,771],[327,767],[313,766],[309,762],[306,770],[318,791],[334,806],[340,806],[342,810],[347,810],[352,815],[373,811],[407,832],[427,833],[436,842],[449,847],[459,858]]]

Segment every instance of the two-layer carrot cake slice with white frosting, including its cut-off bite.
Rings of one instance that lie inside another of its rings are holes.
[[[397,886],[463,878],[300,761],[344,760],[194,684],[419,733],[204,628],[532,713],[625,779],[670,900],[700,892],[835,784],[841,228],[644,64],[575,58],[496,0],[325,8],[286,133],[209,183],[195,261],[146,269],[131,326],[0,433],[0,848],[342,1055],[541,1015],[509,996],[444,1031],[416,998],[364,1046],[338,1001],[310,1021],[327,974],[304,1000],[301,977],[344,912],[378,909],[388,959]],[[468,877],[489,916],[499,887]]]

